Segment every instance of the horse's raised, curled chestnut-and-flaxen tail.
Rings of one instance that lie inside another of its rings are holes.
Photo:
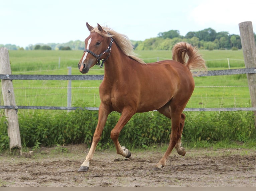
[[[198,51],[186,42],[180,42],[172,48],[172,60],[184,64],[189,70],[207,70],[205,60]]]

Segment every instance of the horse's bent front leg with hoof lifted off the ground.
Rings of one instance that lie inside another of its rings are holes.
[[[135,112],[130,108],[125,108],[121,114],[121,117],[119,118],[116,126],[111,131],[111,139],[113,140],[115,146],[116,146],[116,152],[117,154],[121,154],[122,156],[126,158],[131,157],[131,152],[125,148],[124,146],[121,146],[118,141],[118,136],[124,125],[131,119],[131,117],[135,114]]]

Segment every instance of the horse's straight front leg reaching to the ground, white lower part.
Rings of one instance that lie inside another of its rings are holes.
[[[102,105],[100,105],[98,124],[97,124],[97,127],[96,127],[94,135],[93,135],[93,142],[92,142],[91,148],[89,150],[89,153],[86,156],[85,161],[83,162],[83,164],[80,166],[80,168],[78,170],[79,172],[88,171],[90,160],[93,158],[94,151],[95,151],[96,146],[101,138],[101,134],[102,134],[104,125],[106,124],[109,113],[110,112],[107,109],[105,109]]]

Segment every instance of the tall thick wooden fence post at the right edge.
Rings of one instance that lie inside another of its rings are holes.
[[[253,34],[252,22],[239,23],[241,43],[244,53],[244,63],[246,68],[256,70],[256,47]],[[252,107],[256,107],[256,74],[247,74]],[[254,122],[256,128],[256,111],[254,111]]]

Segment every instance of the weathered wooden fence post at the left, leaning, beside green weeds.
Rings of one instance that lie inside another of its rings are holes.
[[[9,61],[9,53],[7,48],[0,48],[0,74],[10,75],[11,66]],[[13,85],[11,80],[1,80],[2,81],[2,92],[4,105],[16,105]],[[5,115],[8,121],[8,136],[10,150],[17,151],[21,154],[21,138],[19,131],[19,122],[17,109],[5,109]]]

